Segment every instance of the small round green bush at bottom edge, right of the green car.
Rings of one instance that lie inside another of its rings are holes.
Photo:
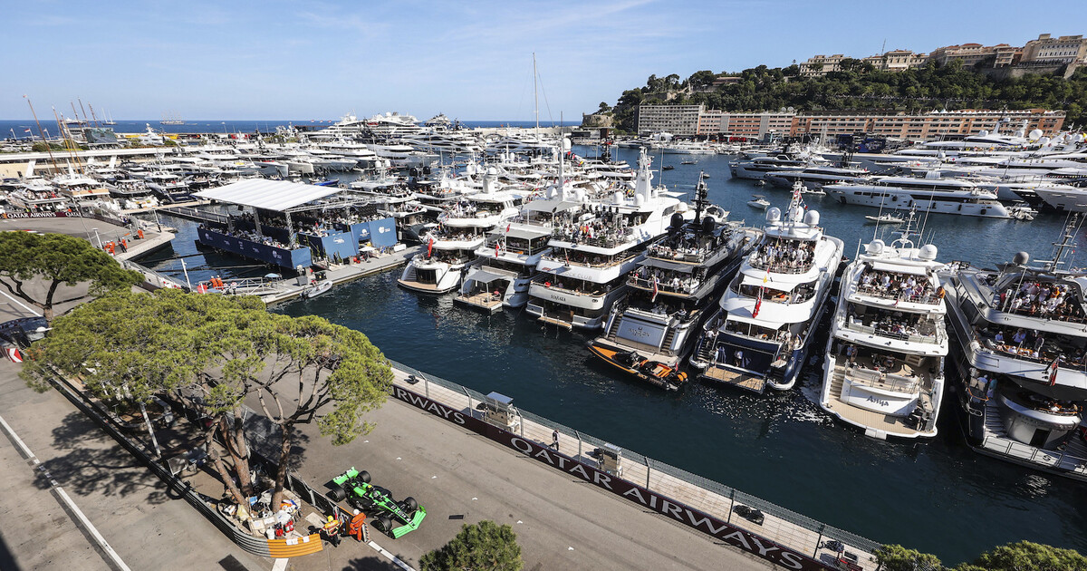
[[[465,523],[441,549],[420,559],[420,571],[521,571],[521,546],[513,527],[490,520]]]

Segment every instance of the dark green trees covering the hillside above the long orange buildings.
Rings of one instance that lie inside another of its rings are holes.
[[[765,111],[792,107],[798,112],[870,111],[878,113],[926,112],[933,109],[1052,109],[1067,112],[1065,127],[1082,126],[1087,109],[1087,69],[1069,79],[1062,73],[995,79],[959,62],[902,72],[875,70],[871,63],[846,59],[842,71],[823,77],[801,77],[796,64],[788,67],[760,65],[744,70],[740,80],[711,88],[720,75],[710,71],[649,76],[644,87],[627,89],[611,112],[622,131],[637,128],[639,104],[698,104],[724,111]]]

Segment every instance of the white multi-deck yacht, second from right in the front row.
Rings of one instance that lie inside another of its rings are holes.
[[[872,240],[846,268],[823,362],[820,407],[886,439],[936,436],[948,336],[936,247]]]

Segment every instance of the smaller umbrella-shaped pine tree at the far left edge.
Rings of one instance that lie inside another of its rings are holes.
[[[45,293],[36,291],[38,288],[32,284],[36,280],[43,283]],[[121,268],[110,255],[85,239],[63,234],[0,232],[0,283],[13,295],[41,308],[49,321],[61,285],[89,283],[86,295],[64,302],[128,289],[142,281],[139,272]]]

